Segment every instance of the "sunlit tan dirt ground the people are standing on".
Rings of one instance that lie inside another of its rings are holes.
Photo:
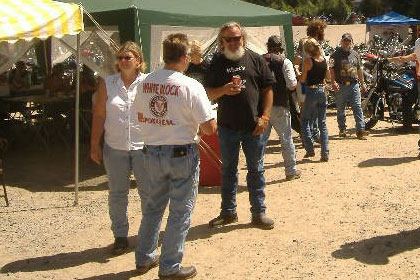
[[[348,118],[354,127],[352,117]],[[244,158],[239,222],[219,229],[219,187],[200,188],[183,264],[196,279],[420,279],[418,134],[399,135],[380,122],[366,141],[338,139],[333,111],[331,157],[303,160],[295,135],[299,180],[285,181],[273,131],[266,155],[267,213],[276,227],[250,225]],[[134,253],[112,256],[107,185],[102,168],[82,158],[80,206],[73,207],[71,151],[10,151],[6,175],[11,206],[0,200],[1,279],[156,279],[137,276]],[[130,191],[130,242],[141,218]],[[164,224],[167,213],[165,214]]]

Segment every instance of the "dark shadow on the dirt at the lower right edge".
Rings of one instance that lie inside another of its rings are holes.
[[[389,263],[389,257],[419,248],[420,228],[346,243],[334,251],[332,256],[337,259],[355,259],[365,264],[385,265]]]

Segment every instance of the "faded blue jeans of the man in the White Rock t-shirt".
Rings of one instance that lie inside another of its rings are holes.
[[[153,262],[162,216],[169,203],[159,260],[159,274],[168,275],[180,269],[197,198],[197,144],[145,146],[144,164],[144,186],[140,189],[143,218],[137,238],[136,265],[146,266]]]

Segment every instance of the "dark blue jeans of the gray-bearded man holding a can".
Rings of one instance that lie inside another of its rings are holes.
[[[248,173],[246,176],[251,213],[265,213],[264,179],[264,135],[253,136],[252,132],[236,131],[219,126],[219,145],[222,156],[222,205],[221,214],[236,213],[236,192],[238,189],[239,149],[246,158]]]

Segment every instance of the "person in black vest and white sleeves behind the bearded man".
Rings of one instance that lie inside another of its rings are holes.
[[[273,35],[268,38],[267,51],[264,58],[276,78],[273,85],[273,108],[271,109],[270,124],[264,134],[266,140],[274,126],[281,143],[286,180],[300,178],[301,172],[296,168],[296,151],[292,138],[292,120],[290,116],[290,91],[296,88],[296,75],[292,62],[283,55],[281,38]]]

